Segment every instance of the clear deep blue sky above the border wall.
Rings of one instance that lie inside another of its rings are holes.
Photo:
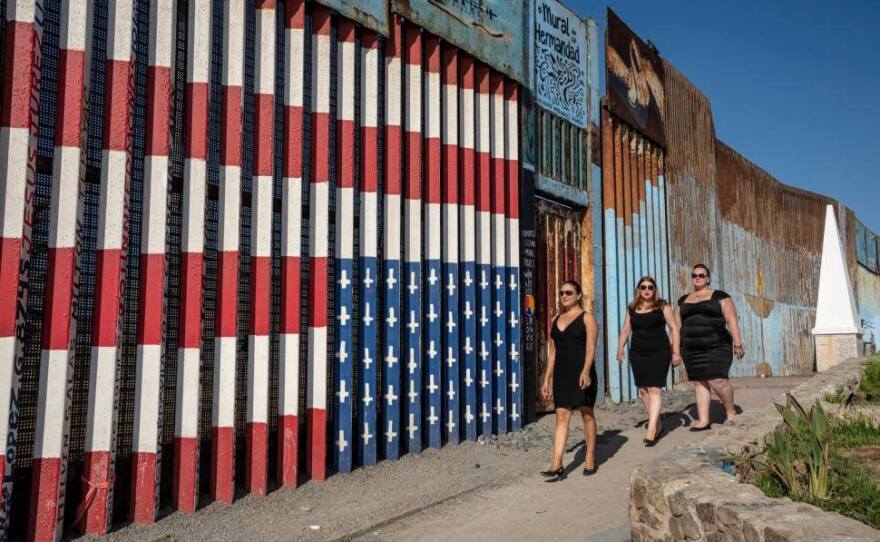
[[[880,233],[880,1],[562,1],[603,47],[611,6],[708,96],[719,139]]]

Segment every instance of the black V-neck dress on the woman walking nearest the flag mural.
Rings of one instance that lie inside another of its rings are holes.
[[[564,330],[560,331],[553,320],[550,336],[556,346],[556,365],[553,366],[553,404],[557,408],[577,408],[596,404],[598,391],[596,364],[590,366],[590,385],[582,390],[578,386],[584,357],[587,355],[587,326],[584,313],[580,313]]]

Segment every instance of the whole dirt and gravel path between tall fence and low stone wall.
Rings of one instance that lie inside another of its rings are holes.
[[[769,400],[803,379],[739,379],[736,401],[743,409]],[[309,482],[268,497],[242,495],[233,505],[209,504],[194,515],[172,513],[155,525],[129,525],[111,540],[521,540],[604,533],[625,536],[628,481],[632,468],[679,443],[698,439],[686,425],[693,394],[667,395],[664,424],[670,434],[656,448],[642,445],[644,419],[638,405],[597,409],[599,472],[581,475],[583,433],[575,421],[566,455],[569,478],[545,484],[552,416],[517,434],[427,450]],[[720,405],[717,405],[720,406]],[[720,412],[715,412],[718,415]],[[167,512],[166,512],[167,513]],[[622,534],[623,533],[623,534]]]

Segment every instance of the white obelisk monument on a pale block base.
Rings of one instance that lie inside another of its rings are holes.
[[[862,355],[862,329],[833,205],[828,205],[825,212],[813,337],[816,341],[816,370],[819,372]]]

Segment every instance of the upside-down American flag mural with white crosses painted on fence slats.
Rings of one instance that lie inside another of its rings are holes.
[[[0,538],[521,426],[519,85],[492,59],[305,0],[5,6]]]

